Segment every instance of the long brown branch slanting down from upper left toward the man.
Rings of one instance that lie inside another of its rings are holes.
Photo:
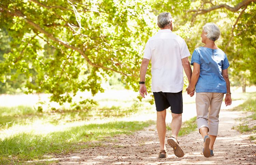
[[[3,7],[3,6],[2,6]],[[44,29],[42,29],[39,25],[35,24],[33,21],[29,20],[26,18],[26,16],[24,14],[22,14],[22,12],[20,12],[19,10],[15,10],[14,12],[11,12],[9,9],[3,7],[3,9],[13,15],[13,16],[17,16],[17,17],[22,17],[29,25],[31,25],[32,27],[34,27],[35,29],[37,29],[39,32],[45,34],[47,37],[49,37],[51,40],[53,40],[54,42],[56,43],[59,43],[61,45],[63,45],[64,47],[66,48],[70,48],[70,49],[73,49],[77,52],[79,52],[84,58],[85,60],[91,65],[91,66],[94,66],[94,67],[98,67],[98,68],[102,68],[104,70],[110,70],[110,71],[113,71],[113,72],[117,72],[117,73],[120,73],[122,75],[125,75],[125,76],[131,76],[131,74],[127,74],[127,73],[123,73],[123,72],[120,72],[120,71],[117,71],[117,70],[114,70],[112,68],[109,68],[109,67],[105,67],[105,66],[102,66],[102,65],[98,65],[98,64],[95,64],[93,62],[90,61],[90,59],[88,58],[88,56],[85,55],[84,51],[81,50],[80,48],[78,47],[75,47],[73,45],[70,45],[69,43],[65,42],[65,41],[62,41],[56,37],[54,37],[52,34],[48,33],[47,31],[45,31]]]

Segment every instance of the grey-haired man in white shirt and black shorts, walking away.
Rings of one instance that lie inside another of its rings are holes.
[[[151,60],[151,89],[155,98],[157,132],[160,142],[158,157],[167,157],[165,118],[166,109],[169,107],[171,107],[172,112],[172,135],[168,138],[167,143],[173,148],[174,154],[177,157],[183,157],[184,152],[177,141],[177,135],[182,124],[183,68],[189,84],[192,74],[188,61],[190,53],[185,41],[179,35],[172,32],[172,17],[170,13],[159,14],[157,25],[160,30],[147,41],[145,46],[140,68],[140,94],[144,98],[145,94],[147,95],[145,75],[148,63]]]

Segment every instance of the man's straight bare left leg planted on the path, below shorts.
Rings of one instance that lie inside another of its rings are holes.
[[[163,150],[163,149],[165,149],[166,109],[162,110],[162,111],[157,111],[156,113],[157,113],[156,128],[157,128],[158,138],[159,138],[159,142],[160,142],[160,150]]]

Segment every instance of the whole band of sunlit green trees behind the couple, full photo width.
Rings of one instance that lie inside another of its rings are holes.
[[[102,92],[113,73],[138,90],[144,45],[170,12],[190,52],[207,22],[230,62],[231,85],[256,84],[256,0],[6,0],[0,2],[0,92],[51,93],[71,102],[77,91]],[[148,70],[150,72],[150,68]],[[150,74],[146,81],[150,86]]]

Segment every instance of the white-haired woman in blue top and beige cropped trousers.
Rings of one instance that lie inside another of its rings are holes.
[[[201,34],[205,45],[193,52],[191,65],[194,70],[187,93],[194,95],[196,87],[197,125],[204,139],[203,155],[213,156],[213,145],[218,134],[219,111],[225,96],[226,106],[231,105],[230,83],[228,79],[228,59],[215,45],[220,31],[214,23],[203,26]]]

